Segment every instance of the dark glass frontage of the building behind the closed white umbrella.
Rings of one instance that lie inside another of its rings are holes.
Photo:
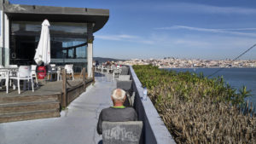
[[[24,60],[26,64],[34,63],[33,56],[38,47],[41,23],[35,21],[11,21],[10,52],[15,57],[10,63]],[[87,24],[50,22],[50,55],[51,63],[56,65],[73,64],[74,72],[80,72],[87,65]],[[28,38],[29,37],[29,38]],[[21,53],[20,51],[32,51]],[[24,62],[20,62],[23,65]]]

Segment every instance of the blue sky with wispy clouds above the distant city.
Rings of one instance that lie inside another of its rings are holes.
[[[116,59],[235,59],[256,43],[255,0],[10,0],[109,9],[93,55]],[[241,56],[256,60],[256,47]]]

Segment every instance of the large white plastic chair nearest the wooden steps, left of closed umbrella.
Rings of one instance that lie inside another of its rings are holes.
[[[32,78],[32,68],[31,66],[20,66],[19,67],[19,72],[17,72],[16,77],[9,77],[10,79],[16,79],[18,82],[18,92],[20,95],[20,80],[31,80],[32,84],[32,92],[34,92],[34,83],[33,83],[33,78]]]

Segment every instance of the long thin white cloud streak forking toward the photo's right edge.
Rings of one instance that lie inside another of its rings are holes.
[[[212,32],[212,33],[223,33],[223,34],[230,34],[230,35],[247,36],[247,37],[256,37],[256,33],[237,32],[237,31],[255,31],[256,28],[211,29],[211,28],[191,27],[191,26],[170,26],[170,27],[160,27],[156,29],[157,30],[185,29],[185,30],[197,31],[197,32]]]

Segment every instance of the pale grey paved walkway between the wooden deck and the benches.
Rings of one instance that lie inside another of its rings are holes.
[[[102,135],[96,123],[102,108],[112,105],[116,87],[111,76],[96,77],[96,84],[73,101],[61,118],[0,124],[0,144],[97,144]]]

